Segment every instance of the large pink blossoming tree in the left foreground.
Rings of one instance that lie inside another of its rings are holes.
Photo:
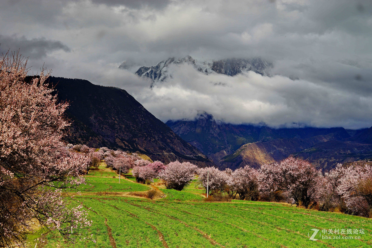
[[[49,74],[26,83],[26,73],[18,54],[0,58],[0,247],[22,241],[35,221],[65,238],[71,227],[90,225],[81,206],[68,208],[61,195],[84,182],[90,156],[61,141],[68,104],[51,95]]]

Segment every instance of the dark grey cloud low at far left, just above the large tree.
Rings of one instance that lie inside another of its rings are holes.
[[[51,41],[45,38],[26,39],[25,36],[0,35],[0,52],[19,50],[31,59],[40,59],[47,56],[48,52],[63,50],[70,52],[71,49],[60,41]]]

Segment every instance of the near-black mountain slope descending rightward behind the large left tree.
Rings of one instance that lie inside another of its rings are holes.
[[[81,79],[50,77],[49,83],[60,100],[70,102],[66,111],[72,120],[68,142],[140,151],[163,162],[178,159],[201,166],[211,164],[125,90]]]

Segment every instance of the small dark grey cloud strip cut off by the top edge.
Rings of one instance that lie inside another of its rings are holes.
[[[140,9],[146,6],[163,9],[169,4],[169,0],[92,0],[92,2],[108,6],[126,6],[132,9]]]

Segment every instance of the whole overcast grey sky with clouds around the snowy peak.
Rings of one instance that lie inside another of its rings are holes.
[[[123,88],[163,121],[206,111],[231,123],[372,126],[371,0],[1,0],[0,23],[0,52],[20,49],[30,74],[44,64]],[[185,55],[262,57],[275,76],[184,65],[150,89],[133,73]]]

